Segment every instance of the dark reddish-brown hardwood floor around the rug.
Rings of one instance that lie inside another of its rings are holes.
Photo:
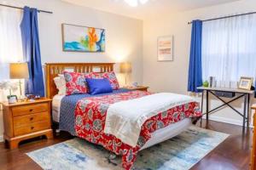
[[[200,126],[198,122],[197,126]],[[242,133],[242,128],[221,122],[202,123],[202,127],[212,129],[214,131],[230,133],[230,137],[217,148],[212,150],[200,162],[195,164],[193,170],[247,170],[250,159],[250,143],[252,141],[252,130]],[[22,169],[37,170],[41,169],[34,161],[32,161],[26,153],[32,150],[38,150],[51,144],[57,144],[67,139],[72,139],[69,134],[61,133],[54,139],[32,139],[29,142],[20,144],[19,149],[9,150],[5,148],[5,144],[0,143],[0,169]]]

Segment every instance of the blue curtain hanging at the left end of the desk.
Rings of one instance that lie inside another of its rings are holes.
[[[188,91],[199,93],[197,87],[202,85],[201,73],[201,37],[202,37],[202,21],[193,20],[191,46],[189,57],[189,84]]]

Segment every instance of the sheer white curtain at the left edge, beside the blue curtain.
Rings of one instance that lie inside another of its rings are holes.
[[[9,79],[9,63],[23,61],[20,22],[22,11],[0,7],[0,82]],[[13,92],[15,93],[15,92]],[[0,89],[0,101],[9,90]]]

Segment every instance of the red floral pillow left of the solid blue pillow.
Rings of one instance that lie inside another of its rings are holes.
[[[87,93],[84,74],[64,71],[64,77],[66,81],[66,95]]]

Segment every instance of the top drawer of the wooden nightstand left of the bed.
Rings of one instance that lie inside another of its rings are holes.
[[[38,113],[41,111],[48,111],[48,104],[33,104],[33,105],[23,105],[23,106],[15,106],[12,108],[13,116],[23,116],[29,115],[33,113]]]

